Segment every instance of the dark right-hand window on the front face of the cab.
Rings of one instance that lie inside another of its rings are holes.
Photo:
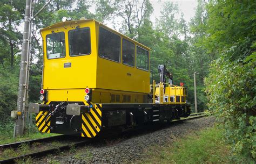
[[[69,31],[69,55],[88,55],[91,53],[90,28]]]

